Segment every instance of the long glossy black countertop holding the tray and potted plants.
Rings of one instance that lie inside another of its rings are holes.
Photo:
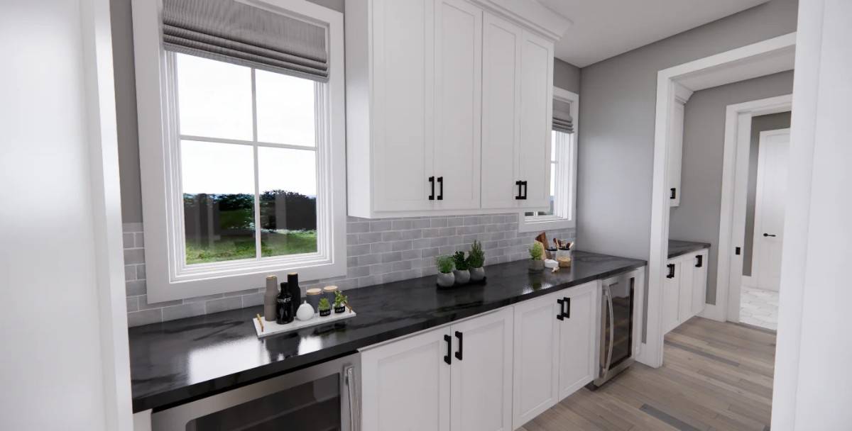
[[[645,261],[574,252],[570,269],[527,272],[527,261],[486,266],[486,286],[435,288],[435,277],[348,290],[352,319],[258,339],[251,319],[262,307],[130,328],[133,411],[217,394],[356,349],[444,325]]]

